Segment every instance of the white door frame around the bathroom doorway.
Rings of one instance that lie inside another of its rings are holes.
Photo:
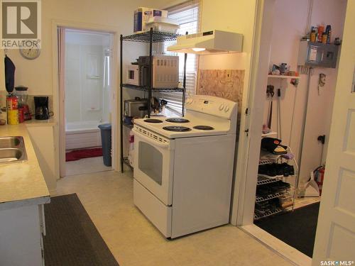
[[[119,103],[120,91],[119,91],[119,28],[114,26],[99,25],[93,23],[82,23],[77,21],[65,21],[65,20],[53,20],[52,21],[52,58],[53,58],[53,108],[54,113],[58,114],[58,126],[55,126],[55,161],[58,162],[56,166],[56,172],[58,177],[62,177],[60,169],[65,169],[65,135],[61,133],[65,128],[65,92],[60,91],[59,77],[58,77],[58,27],[74,28],[87,31],[101,31],[112,33],[114,35],[113,49],[112,49],[112,84],[111,87],[111,106],[112,106],[112,168],[119,171],[120,156],[118,151],[120,150],[120,131],[119,131],[119,115],[121,104]],[[57,148],[58,147],[58,148]],[[65,174],[65,173],[64,173]]]

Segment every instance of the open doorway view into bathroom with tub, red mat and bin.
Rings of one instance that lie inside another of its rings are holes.
[[[65,176],[111,170],[113,34],[63,28],[62,37]]]

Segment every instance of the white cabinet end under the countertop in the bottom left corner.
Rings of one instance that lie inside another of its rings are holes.
[[[44,265],[43,205],[21,206],[0,211],[0,265]]]

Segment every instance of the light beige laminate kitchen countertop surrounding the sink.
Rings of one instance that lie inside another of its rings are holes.
[[[28,157],[25,162],[0,165],[0,210],[50,202],[50,193],[33,150],[27,126],[53,126],[55,122],[35,122],[0,126],[0,136],[23,136]]]

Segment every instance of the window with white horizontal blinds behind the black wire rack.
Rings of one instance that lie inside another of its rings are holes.
[[[179,34],[192,34],[200,31],[200,1],[187,1],[178,6],[173,6],[169,9],[168,17],[175,19],[180,24]],[[179,76],[180,82],[183,80],[184,71],[184,54],[167,52],[167,48],[173,45],[175,41],[163,43],[163,52],[166,55],[179,56]],[[159,47],[155,48],[158,52]],[[198,55],[188,54],[186,62],[186,95],[195,94],[196,79],[197,79]],[[181,113],[182,111],[182,96],[181,93],[160,93],[160,98],[168,101],[168,108]]]

